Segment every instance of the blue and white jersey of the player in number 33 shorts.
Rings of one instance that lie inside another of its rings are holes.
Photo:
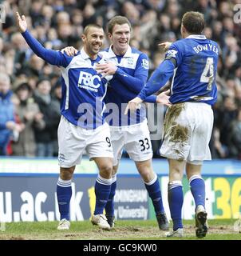
[[[142,106],[136,114],[124,115],[128,101],[136,97],[148,78],[148,56],[135,48],[128,46],[123,56],[114,54],[112,47],[101,52],[106,62],[114,62],[117,72],[109,82],[105,97],[106,122],[110,126],[129,126],[143,122],[146,118],[145,107]],[[153,100],[153,102],[156,101]]]

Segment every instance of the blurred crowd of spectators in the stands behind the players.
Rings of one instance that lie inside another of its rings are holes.
[[[89,23],[106,26],[117,14],[132,24],[131,46],[148,54],[150,74],[164,59],[158,43],[180,39],[180,22],[188,10],[206,18],[204,34],[219,43],[218,101],[213,106],[213,158],[241,159],[241,21],[234,22],[240,0],[9,0],[0,24],[0,154],[57,156],[60,120],[60,71],[27,46],[14,14],[25,14],[28,29],[46,48],[81,49]],[[109,42],[105,40],[105,46]],[[13,111],[14,110],[14,111]],[[14,114],[13,114],[14,113]],[[11,136],[11,142],[6,137]],[[160,142],[153,142],[154,157]],[[7,144],[7,145],[6,145]]]

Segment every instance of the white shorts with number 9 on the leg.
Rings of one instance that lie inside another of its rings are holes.
[[[62,116],[57,130],[57,138],[58,162],[63,168],[80,164],[85,152],[89,158],[113,158],[107,123],[95,130],[87,130],[80,126],[74,126]]]

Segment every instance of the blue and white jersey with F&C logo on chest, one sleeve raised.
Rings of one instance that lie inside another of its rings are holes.
[[[97,63],[105,63],[101,55],[92,60],[85,50],[74,57],[61,51],[41,46],[28,30],[22,33],[30,48],[40,58],[61,69],[61,114],[73,125],[95,129],[105,122],[105,98],[108,81],[113,76],[102,77],[95,70]]]

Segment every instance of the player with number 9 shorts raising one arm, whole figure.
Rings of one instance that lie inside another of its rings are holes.
[[[58,127],[60,177],[57,181],[57,202],[60,211],[57,230],[69,230],[69,202],[72,196],[73,171],[81,163],[85,150],[99,169],[95,183],[96,206],[92,216],[94,225],[110,230],[103,214],[112,184],[113,149],[109,125],[103,110],[107,82],[111,76],[97,74],[95,66],[104,60],[99,50],[104,41],[104,30],[98,25],[85,27],[81,35],[83,48],[69,57],[56,50],[46,50],[27,30],[24,15],[16,14],[17,25],[30,48],[46,62],[61,69],[61,122]]]

